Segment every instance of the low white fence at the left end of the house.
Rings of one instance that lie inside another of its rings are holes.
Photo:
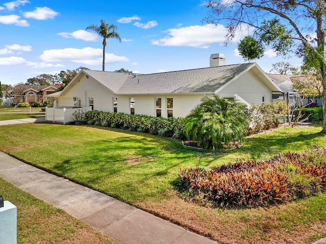
[[[47,108],[47,107],[45,107],[45,119],[46,119],[46,121],[66,124],[73,120],[72,114],[73,114],[73,112],[78,111],[78,110],[87,112],[87,111],[92,110],[92,107],[88,107],[88,108],[72,108],[72,107]]]

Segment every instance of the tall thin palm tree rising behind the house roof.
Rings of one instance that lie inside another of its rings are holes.
[[[103,71],[105,70],[106,39],[107,38],[116,38],[116,39],[119,39],[119,41],[121,43],[121,38],[120,38],[119,34],[115,32],[117,28],[118,27],[116,25],[114,25],[114,24],[111,24],[109,26],[102,19],[101,19],[101,25],[100,26],[92,24],[90,26],[87,26],[87,28],[86,28],[86,29],[91,29],[92,31],[97,33],[97,35],[99,35],[100,37],[103,37],[103,66],[102,66]]]

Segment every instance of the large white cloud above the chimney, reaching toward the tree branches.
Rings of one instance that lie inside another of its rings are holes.
[[[246,29],[242,26],[242,29]],[[247,29],[248,30],[248,29]],[[226,28],[222,24],[191,25],[181,28],[172,28],[166,31],[168,35],[159,40],[152,40],[152,45],[183,46],[209,48],[210,44],[225,42]],[[242,32],[236,33],[233,42],[240,40]]]

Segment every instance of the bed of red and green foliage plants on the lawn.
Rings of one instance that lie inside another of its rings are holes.
[[[185,196],[213,206],[252,207],[326,191],[326,148],[284,153],[213,169],[181,169],[175,182]]]

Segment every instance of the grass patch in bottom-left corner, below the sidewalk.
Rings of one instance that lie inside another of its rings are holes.
[[[2,178],[0,194],[17,207],[17,243],[118,243]]]

